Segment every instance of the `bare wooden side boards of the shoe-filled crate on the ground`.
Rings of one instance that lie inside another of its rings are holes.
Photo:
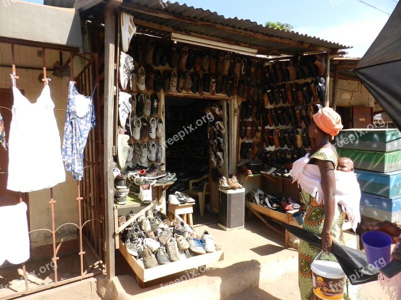
[[[158,265],[151,268],[144,268],[130,253],[128,253],[124,243],[119,238],[119,250],[124,258],[127,260],[128,264],[131,266],[135,273],[135,280],[141,288],[151,286],[158,282],[149,282],[152,280],[160,279],[175,273],[183,272],[186,270],[198,268],[207,264],[215,263],[217,261],[223,260],[224,254],[223,250],[216,245],[216,251],[206,254],[199,254],[193,257],[188,257],[174,262],[169,262],[166,264]],[[162,279],[161,279],[162,280]],[[162,281],[160,281],[162,282]],[[146,284],[147,283],[147,284]]]

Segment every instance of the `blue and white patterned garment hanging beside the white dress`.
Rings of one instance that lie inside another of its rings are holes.
[[[86,140],[89,131],[96,125],[94,93],[95,89],[91,96],[82,95],[78,93],[74,81],[70,81],[62,153],[66,170],[71,171],[73,178],[78,180],[81,180],[84,174]]]

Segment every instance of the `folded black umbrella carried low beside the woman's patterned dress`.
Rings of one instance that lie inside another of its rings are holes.
[[[292,234],[319,249],[322,248],[322,239],[315,233],[289,224],[282,225]],[[333,241],[333,247],[331,251],[335,258],[337,258],[342,270],[351,281],[351,284],[356,285],[377,280],[379,269],[367,262],[366,254],[364,252],[340,245],[335,241]]]

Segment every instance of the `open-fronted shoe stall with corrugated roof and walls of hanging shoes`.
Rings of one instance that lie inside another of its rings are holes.
[[[193,215],[291,223],[288,170],[346,46],[168,1],[80,7],[104,59],[108,276],[119,257],[141,287],[222,259]]]

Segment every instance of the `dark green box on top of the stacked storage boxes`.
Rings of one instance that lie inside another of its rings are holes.
[[[385,128],[345,129],[336,135],[335,145],[344,149],[394,151],[401,149],[401,133]]]

